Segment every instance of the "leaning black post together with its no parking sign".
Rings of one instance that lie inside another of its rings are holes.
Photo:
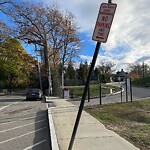
[[[81,103],[79,106],[79,110],[78,110],[77,118],[76,118],[75,125],[73,128],[73,132],[72,132],[72,136],[70,139],[68,150],[72,150],[74,139],[75,139],[76,132],[78,129],[78,125],[80,122],[82,110],[84,107],[88,87],[90,84],[92,71],[93,71],[95,63],[96,63],[96,59],[97,59],[97,56],[99,53],[101,42],[105,43],[107,41],[107,37],[109,34],[109,30],[110,30],[110,27],[112,24],[112,20],[113,20],[114,14],[115,14],[116,7],[117,7],[117,4],[111,3],[111,0],[108,0],[108,3],[102,3],[100,6],[100,10],[99,10],[99,14],[97,17],[94,33],[92,36],[92,39],[94,41],[97,41],[97,44],[96,44],[94,56],[92,59],[91,67],[90,67],[90,70],[88,73],[87,81],[85,84],[84,92],[82,95]]]

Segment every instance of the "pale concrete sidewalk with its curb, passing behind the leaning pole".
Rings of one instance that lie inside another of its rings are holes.
[[[52,138],[52,150],[68,150],[72,130],[78,113],[78,107],[56,97],[46,98],[49,125]],[[138,150],[118,134],[85,111],[73,145],[73,150]]]

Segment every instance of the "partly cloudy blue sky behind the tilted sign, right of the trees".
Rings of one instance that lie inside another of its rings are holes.
[[[84,48],[80,58],[90,63],[96,42],[92,41],[97,14],[101,3],[107,0],[30,0],[49,4],[57,3],[61,9],[71,11],[76,17]],[[107,43],[102,43],[96,65],[100,61],[116,64],[116,71],[128,71],[128,65],[142,63],[150,65],[150,1],[149,0],[112,0],[117,4],[116,14],[110,30]],[[3,19],[0,14],[0,19]],[[6,21],[6,20],[4,20]],[[29,47],[25,49],[33,53]]]

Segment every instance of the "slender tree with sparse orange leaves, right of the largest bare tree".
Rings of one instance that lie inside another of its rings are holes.
[[[64,90],[64,65],[66,62],[70,62],[73,57],[78,56],[78,51],[80,49],[80,39],[77,35],[77,28],[74,24],[74,15],[70,12],[66,12],[63,23],[62,50],[60,53],[62,64],[62,90]]]

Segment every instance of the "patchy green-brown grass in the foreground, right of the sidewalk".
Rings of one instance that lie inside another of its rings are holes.
[[[85,107],[106,128],[141,150],[150,150],[150,99]]]

